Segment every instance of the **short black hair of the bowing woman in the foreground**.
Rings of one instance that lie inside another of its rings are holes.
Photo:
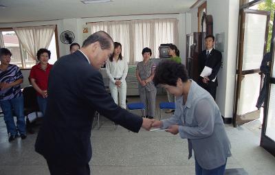
[[[177,80],[187,82],[188,75],[185,66],[173,60],[164,60],[159,63],[155,69],[155,76],[153,82],[157,84],[168,84],[170,86],[177,86]]]

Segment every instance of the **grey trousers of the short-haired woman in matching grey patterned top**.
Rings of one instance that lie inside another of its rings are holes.
[[[145,104],[146,116],[155,116],[155,96],[157,95],[157,89],[148,91],[146,87],[139,88],[140,101]]]

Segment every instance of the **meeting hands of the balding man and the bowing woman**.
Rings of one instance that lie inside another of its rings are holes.
[[[143,118],[142,128],[146,130],[150,130],[151,128],[161,128],[162,125],[162,121]],[[171,125],[167,128],[166,132],[170,132],[173,135],[177,135],[177,133],[179,133],[179,126]]]

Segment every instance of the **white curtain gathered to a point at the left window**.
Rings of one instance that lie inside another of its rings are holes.
[[[48,48],[56,26],[47,25],[39,27],[13,27],[19,42],[32,57],[37,60],[36,52],[41,48]]]

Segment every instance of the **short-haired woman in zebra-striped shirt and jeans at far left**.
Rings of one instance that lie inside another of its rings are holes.
[[[17,137],[17,130],[21,139],[25,139],[24,100],[20,84],[23,75],[17,65],[10,64],[12,53],[9,49],[0,49],[0,105],[3,110],[5,125],[7,126],[9,139],[13,141]],[[13,116],[17,116],[17,126]]]

